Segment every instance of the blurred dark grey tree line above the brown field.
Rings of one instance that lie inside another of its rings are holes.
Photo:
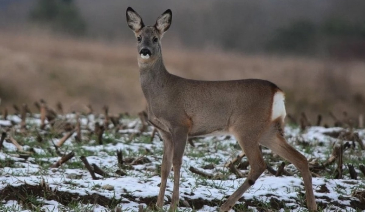
[[[28,20],[56,32],[130,42],[128,6],[146,24],[172,9],[173,24],[164,39],[170,47],[365,56],[364,0],[17,0],[18,13],[9,9],[7,17],[19,23],[28,13]]]

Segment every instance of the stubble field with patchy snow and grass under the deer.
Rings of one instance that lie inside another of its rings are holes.
[[[0,132],[7,131],[0,151],[0,211],[138,211],[139,205],[152,210],[149,206],[157,201],[161,180],[163,144],[157,133],[151,137],[153,127],[142,127],[141,119],[123,117],[116,124],[110,122],[100,134],[101,139],[95,123],[104,125],[103,115],[80,115],[80,131],[72,128],[77,128],[75,114],[58,115],[51,122],[53,126],[48,123],[44,129],[40,129],[38,114],[28,114],[26,129],[22,129],[19,116],[9,115],[7,119],[0,117]],[[68,133],[70,138],[60,144]],[[314,126],[301,132],[299,127],[287,126],[285,133],[288,142],[310,160],[320,211],[365,211],[365,176],[360,168],[365,164],[365,150],[358,141],[351,141],[351,136],[336,138],[355,133],[365,143],[364,129]],[[224,166],[241,153],[233,137],[197,138],[192,144],[187,144],[183,157],[178,211],[217,211],[245,180],[247,158],[235,164],[243,174],[238,178]],[[342,179],[335,179],[339,178],[339,160],[328,160],[340,144],[344,149]],[[117,151],[122,156],[119,160]],[[284,160],[265,148],[262,153],[276,172]],[[73,157],[57,168],[50,167],[66,154]],[[81,156],[87,159],[92,172],[100,168],[105,174],[95,173],[92,177]],[[284,172],[279,174],[282,176],[266,170],[235,205],[235,211],[307,211],[300,173],[284,162]],[[350,177],[351,165],[357,180]],[[193,173],[192,168],[204,174]],[[166,211],[172,179],[171,172]]]

